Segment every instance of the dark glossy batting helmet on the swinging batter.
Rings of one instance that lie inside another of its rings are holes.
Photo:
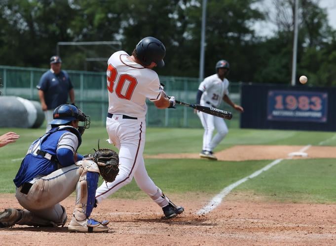
[[[158,67],[163,67],[163,58],[166,55],[166,48],[160,40],[155,37],[145,37],[135,47],[137,57],[145,66],[155,62]]]

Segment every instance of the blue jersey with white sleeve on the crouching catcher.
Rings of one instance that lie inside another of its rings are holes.
[[[30,182],[36,177],[46,176],[58,169],[58,162],[37,154],[38,150],[56,157],[58,149],[67,148],[75,153],[80,144],[81,136],[76,128],[72,126],[52,128],[32,143],[13,180],[14,184],[16,187],[20,187],[25,182]]]

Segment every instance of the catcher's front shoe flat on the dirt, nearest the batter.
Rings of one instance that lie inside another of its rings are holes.
[[[93,218],[84,219],[78,221],[75,216],[73,216],[68,229],[73,232],[107,232],[110,228],[107,226],[109,224],[108,220],[102,222],[97,221]]]

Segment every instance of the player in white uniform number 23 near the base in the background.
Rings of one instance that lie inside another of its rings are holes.
[[[222,102],[226,102],[232,108],[239,112],[244,112],[244,109],[233,103],[228,97],[229,82],[225,78],[229,73],[229,63],[225,60],[220,60],[216,63],[216,74],[205,78],[198,87],[196,103],[202,106],[218,108]],[[223,118],[213,115],[197,112],[199,119],[204,127],[203,147],[200,157],[217,160],[213,150],[224,139],[228,129]],[[214,130],[217,130],[213,137]]]

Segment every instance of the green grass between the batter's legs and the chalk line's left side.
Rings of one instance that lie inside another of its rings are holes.
[[[147,159],[146,168],[154,183],[166,193],[206,193],[214,195],[225,186],[261,169],[269,161],[208,161],[203,159]],[[139,190],[135,182],[126,192]]]

